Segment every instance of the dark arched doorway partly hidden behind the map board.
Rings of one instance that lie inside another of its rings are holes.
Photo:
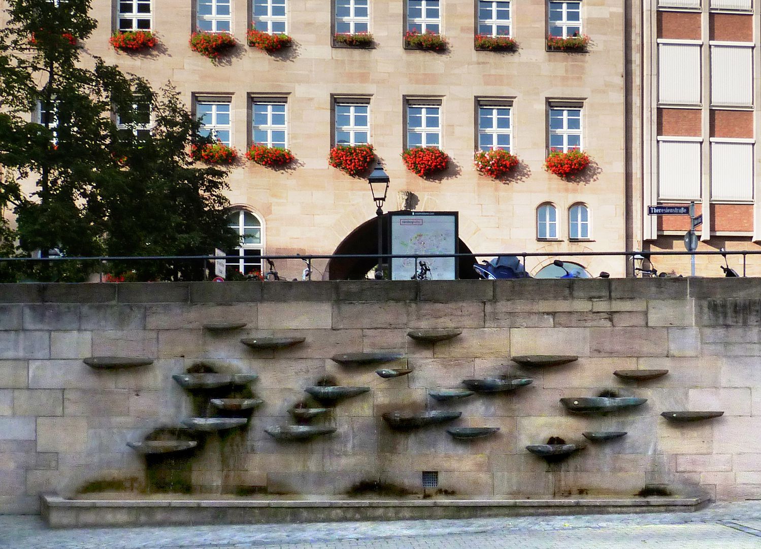
[[[388,214],[384,214],[383,223],[383,253],[388,253]],[[460,239],[458,241],[460,253],[472,253],[470,248]],[[338,245],[333,255],[352,254],[377,254],[378,251],[378,221],[377,217],[368,219],[365,223],[352,230]],[[458,265],[460,278],[478,278],[473,271],[476,258],[473,255],[465,255],[460,258]],[[377,265],[375,257],[370,258],[333,258],[328,262],[327,271],[329,280],[362,280],[374,266]]]

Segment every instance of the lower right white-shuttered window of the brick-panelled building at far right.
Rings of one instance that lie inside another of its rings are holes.
[[[753,200],[753,143],[711,143],[712,200]]]

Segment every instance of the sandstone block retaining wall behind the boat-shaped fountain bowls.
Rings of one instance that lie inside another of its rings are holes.
[[[428,282],[20,284],[0,285],[0,510],[33,513],[57,490],[142,490],[151,467],[126,446],[199,412],[173,381],[199,360],[221,371],[255,372],[265,404],[244,430],[212,435],[174,474],[205,493],[346,493],[361,481],[420,493],[422,471],[458,496],[631,495],[645,484],[720,500],[761,497],[761,281],[614,279]],[[247,327],[214,334],[210,320]],[[462,335],[418,344],[409,328],[457,327]],[[253,351],[240,338],[300,335],[304,344]],[[341,367],[336,353],[396,350],[409,376],[381,379],[376,367]],[[470,377],[519,373],[518,354],[577,354],[575,363],[524,370],[533,384],[446,405],[426,389]],[[154,363],[96,371],[82,358],[147,356]],[[613,370],[666,368],[632,384]],[[304,387],[332,377],[371,392],[324,420],[337,433],[276,443],[263,429],[292,423]],[[648,398],[632,411],[584,417],[564,396],[603,389]],[[500,427],[458,443],[444,427],[389,430],[391,410],[454,408],[457,425]],[[670,424],[667,410],[723,410],[724,417]],[[201,410],[205,411],[205,410]],[[562,465],[525,446],[549,436],[586,442],[587,430],[625,430],[587,443]],[[166,465],[166,464],[164,464]],[[153,474],[157,473],[155,466]],[[184,475],[184,476],[183,476]]]

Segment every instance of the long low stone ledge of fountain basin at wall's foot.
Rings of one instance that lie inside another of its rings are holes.
[[[707,497],[545,500],[67,500],[40,496],[53,528],[266,524],[498,516],[691,512]]]

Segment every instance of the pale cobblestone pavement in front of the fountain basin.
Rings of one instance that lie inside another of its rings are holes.
[[[761,549],[761,502],[716,503],[697,513],[506,517],[51,530],[37,516],[0,516],[8,549]]]

